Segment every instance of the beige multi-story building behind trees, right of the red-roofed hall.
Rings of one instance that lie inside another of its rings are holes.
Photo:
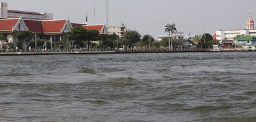
[[[116,34],[119,38],[123,38],[126,32],[126,26],[122,24],[122,26],[107,26],[108,34]]]

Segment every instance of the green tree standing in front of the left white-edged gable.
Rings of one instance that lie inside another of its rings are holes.
[[[28,46],[29,41],[31,41],[29,38],[33,36],[32,32],[29,31],[18,31],[14,34],[16,37],[18,37],[18,43],[22,44],[25,43],[26,46]],[[22,47],[19,47],[22,48]]]

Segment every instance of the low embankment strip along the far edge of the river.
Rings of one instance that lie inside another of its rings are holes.
[[[255,51],[252,49],[223,49],[222,52],[233,52],[233,51]],[[125,50],[125,51],[35,51],[35,52],[24,52],[24,51],[10,51],[0,52],[0,56],[31,56],[31,55],[58,55],[58,54],[132,54],[132,53],[174,53],[174,52],[212,52],[208,49],[183,49],[168,51],[166,49],[148,49],[148,50]]]

